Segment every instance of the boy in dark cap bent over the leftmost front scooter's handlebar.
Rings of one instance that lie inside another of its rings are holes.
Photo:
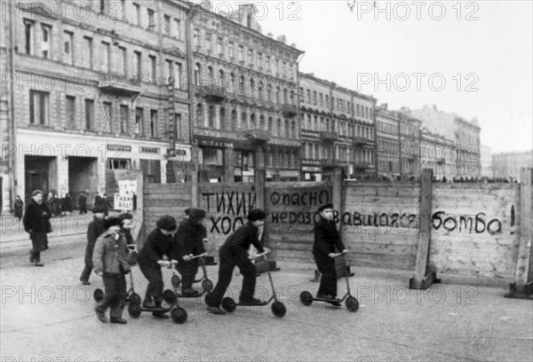
[[[143,308],[161,309],[163,303],[163,273],[161,265],[157,262],[163,256],[170,256],[172,238],[178,225],[172,216],[163,216],[155,224],[155,229],[148,234],[144,246],[139,252],[139,268],[148,280],[147,294]],[[162,311],[154,311],[152,315],[159,319],[168,319],[169,316]]]

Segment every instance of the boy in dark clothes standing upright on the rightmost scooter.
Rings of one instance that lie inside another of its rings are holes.
[[[335,270],[335,247],[346,254],[344,244],[340,240],[337,226],[333,221],[333,204],[328,202],[318,208],[320,219],[314,223],[314,263],[321,272],[320,287],[317,298],[335,300],[337,297],[337,271]],[[340,303],[338,303],[340,305]]]

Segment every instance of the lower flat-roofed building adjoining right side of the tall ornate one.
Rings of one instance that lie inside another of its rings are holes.
[[[320,181],[331,167],[350,178],[375,176],[376,99],[313,74],[299,79],[303,179]]]

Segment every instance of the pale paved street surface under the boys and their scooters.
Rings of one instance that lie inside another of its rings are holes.
[[[279,263],[282,270],[273,276],[288,309],[283,319],[275,318],[269,306],[240,307],[215,316],[203,301],[189,299],[181,303],[188,313],[184,325],[149,314],[131,319],[127,311],[128,325],[102,324],[91,300],[94,288],[101,286],[99,279],[93,275],[89,287],[78,281],[83,246],[76,243],[61,253],[52,244],[44,253],[44,268],[31,266],[26,257],[3,266],[2,361],[531,360],[531,302],[503,298],[505,287],[442,283],[429,291],[413,291],[405,287],[410,273],[357,268],[350,282],[362,305],[355,313],[344,306],[336,310],[321,303],[301,305],[299,293],[317,288],[310,281],[313,266]],[[75,251],[80,254],[72,256]],[[215,281],[217,266],[209,266],[208,273]],[[170,272],[165,270],[165,275],[170,280]],[[133,276],[143,295],[146,282],[139,268]],[[235,297],[241,280],[234,277],[230,292]],[[259,298],[269,295],[267,283],[267,275],[261,275]],[[339,293],[345,290],[340,280]]]

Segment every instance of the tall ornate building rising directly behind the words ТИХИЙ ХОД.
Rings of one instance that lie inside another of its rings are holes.
[[[192,16],[194,139],[201,179],[299,180],[298,57],[284,36],[263,35],[252,4]]]

